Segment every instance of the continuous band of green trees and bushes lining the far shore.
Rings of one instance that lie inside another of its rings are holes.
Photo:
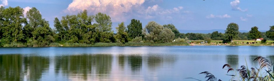
[[[88,15],[88,11],[83,10],[77,15],[62,16],[60,20],[55,18],[54,28],[35,7],[25,16],[23,12],[19,6],[1,6],[0,47],[189,45],[189,40],[208,43],[222,40],[222,43],[234,44],[235,40],[274,39],[274,26],[267,32],[259,32],[258,27],[252,27],[250,32],[241,33],[236,23],[230,23],[224,34],[218,31],[184,34],[173,24],[160,25],[150,21],[142,27],[139,20],[132,19],[127,26],[124,22],[119,23],[117,33],[114,33],[110,16],[100,12]]]

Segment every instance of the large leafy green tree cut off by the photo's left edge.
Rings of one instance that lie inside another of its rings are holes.
[[[0,8],[0,42],[3,44],[24,42],[23,28],[27,19],[23,16],[24,10],[19,6],[12,8]]]

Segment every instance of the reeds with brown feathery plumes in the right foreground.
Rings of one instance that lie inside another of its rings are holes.
[[[270,62],[268,59],[258,56],[255,58],[253,61],[257,61],[259,63],[259,68],[251,67],[250,69],[247,66],[242,65],[239,69],[234,70],[230,65],[225,64],[223,66],[223,69],[226,67],[227,68],[227,73],[229,71],[235,71],[235,75],[227,75],[227,76],[232,76],[232,78],[229,81],[274,81],[274,65],[272,62]],[[208,71],[199,73],[199,74],[205,74],[205,78],[208,78],[205,81],[222,81],[222,80],[217,80],[217,78],[209,73]],[[238,75],[237,75],[238,74]],[[239,78],[239,80],[234,80],[235,77]],[[195,78],[191,78],[195,79]],[[198,79],[195,79],[198,80]],[[202,81],[202,80],[198,80]]]

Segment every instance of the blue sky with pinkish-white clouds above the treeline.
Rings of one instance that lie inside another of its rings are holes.
[[[274,0],[0,0],[0,6],[24,8],[26,13],[36,7],[42,18],[54,28],[54,18],[87,10],[89,15],[108,14],[112,28],[131,19],[161,25],[172,23],[178,30],[225,30],[237,23],[239,30],[269,30],[274,25]]]

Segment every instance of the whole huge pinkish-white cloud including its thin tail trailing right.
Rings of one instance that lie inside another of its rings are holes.
[[[168,16],[167,18],[171,18],[171,14],[179,13],[183,9],[182,6],[163,9],[157,4],[145,7],[143,5],[145,1],[150,0],[73,0],[64,12],[70,14],[77,14],[82,10],[88,10],[89,14],[102,12],[108,14],[113,22],[121,22],[127,21],[131,17],[152,19],[156,16]],[[185,13],[189,13],[189,11],[185,11]]]

